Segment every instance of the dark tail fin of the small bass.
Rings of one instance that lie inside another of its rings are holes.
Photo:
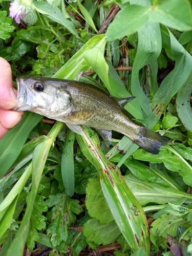
[[[148,153],[157,155],[160,147],[168,143],[168,140],[158,133],[154,133],[146,127],[140,127],[139,137],[134,142]]]

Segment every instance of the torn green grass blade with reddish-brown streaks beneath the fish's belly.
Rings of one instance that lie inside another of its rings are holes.
[[[99,172],[101,187],[112,215],[133,251],[143,247],[150,253],[150,238],[146,216],[120,170],[102,153],[95,133],[83,126],[83,136],[76,135],[82,153]]]

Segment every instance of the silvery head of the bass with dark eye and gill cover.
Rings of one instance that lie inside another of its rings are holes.
[[[70,108],[71,96],[53,78],[16,78],[17,105],[15,111],[31,111],[47,117],[61,115]]]

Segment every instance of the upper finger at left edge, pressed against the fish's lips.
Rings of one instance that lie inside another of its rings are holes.
[[[0,108],[11,110],[16,106],[15,90],[12,83],[11,67],[7,60],[0,57]]]

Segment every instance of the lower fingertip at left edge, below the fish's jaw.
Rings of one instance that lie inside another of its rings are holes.
[[[0,110],[0,122],[6,129],[11,129],[22,119],[23,114],[24,112]]]

